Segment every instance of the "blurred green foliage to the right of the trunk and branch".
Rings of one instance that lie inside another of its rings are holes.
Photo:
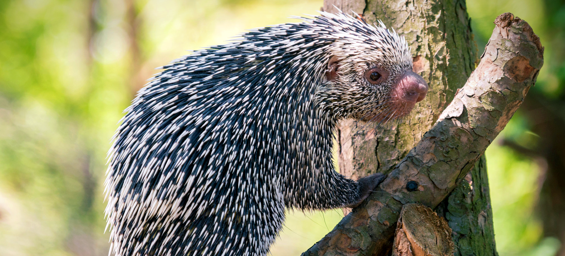
[[[565,238],[565,223],[552,223],[555,224],[552,228],[560,234],[547,232],[543,222],[553,221],[542,218],[544,214],[538,213],[545,210],[540,207],[540,201],[548,201],[540,200],[540,197],[550,196],[540,193],[542,184],[549,177],[547,172],[565,171],[560,167],[551,170],[551,163],[548,168],[546,160],[563,155],[564,152],[558,152],[563,147],[544,150],[543,144],[558,140],[564,130],[561,127],[560,131],[557,128],[553,129],[553,133],[542,134],[546,138],[540,137],[537,132],[543,131],[540,127],[565,120],[565,1],[479,0],[467,2],[467,8],[479,49],[488,42],[494,28],[493,21],[502,12],[512,12],[528,21],[545,46],[544,67],[536,86],[530,90],[524,106],[486,151],[498,252],[500,255],[549,256],[556,255],[559,250],[557,254],[563,256],[565,249],[559,248]],[[540,114],[540,111],[545,114]],[[540,120],[540,116],[544,116],[545,120]],[[524,154],[528,150],[539,153]],[[545,155],[541,153],[543,151]],[[558,212],[557,218],[565,220],[564,214]]]

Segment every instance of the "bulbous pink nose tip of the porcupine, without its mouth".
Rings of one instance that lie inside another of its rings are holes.
[[[406,71],[398,77],[396,95],[401,101],[420,102],[428,93],[428,84],[417,73]]]

